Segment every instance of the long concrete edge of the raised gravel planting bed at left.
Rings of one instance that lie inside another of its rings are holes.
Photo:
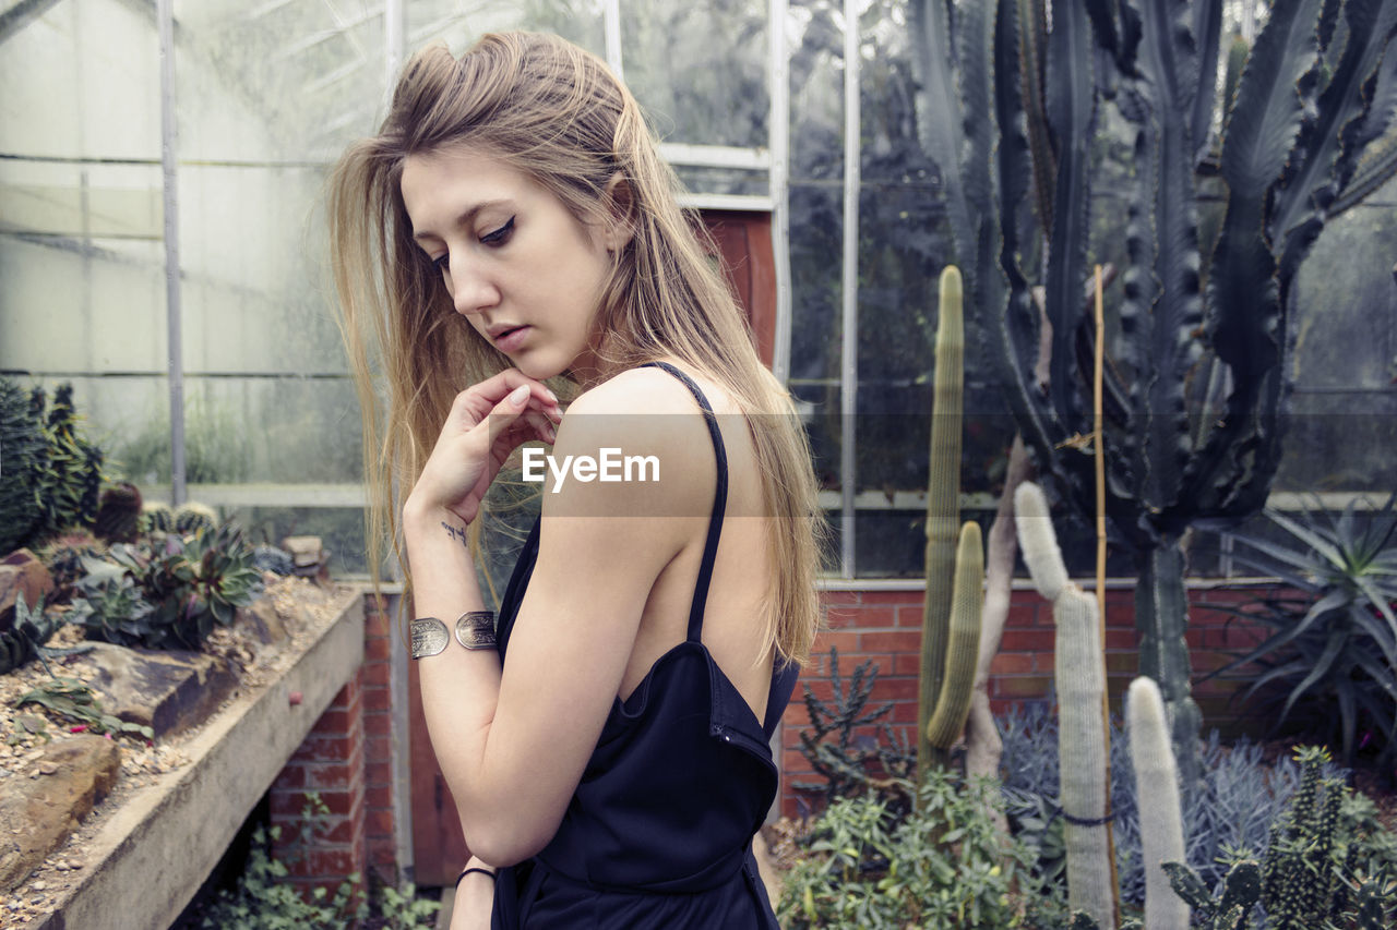
[[[108,817],[84,849],[82,884],[27,930],[170,926],[362,662],[363,592],[353,588],[278,680],[239,694],[182,746],[187,765]]]

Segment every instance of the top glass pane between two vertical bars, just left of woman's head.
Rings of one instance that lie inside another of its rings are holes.
[[[332,161],[386,101],[381,3],[176,0],[182,161]]]

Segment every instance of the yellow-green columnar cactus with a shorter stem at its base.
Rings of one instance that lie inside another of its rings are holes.
[[[926,600],[922,607],[922,663],[916,711],[916,762],[925,771],[942,762],[960,736],[975,684],[979,617],[983,603],[983,549],[979,526],[972,543],[960,525],[961,420],[965,332],[960,270],[942,271],[932,392],[930,469],[926,483]],[[961,553],[975,550],[978,568],[960,575]],[[964,613],[953,617],[954,591],[970,592]],[[970,602],[975,605],[971,607]],[[954,630],[953,630],[954,627]],[[971,628],[974,627],[974,628]],[[950,647],[950,651],[947,649]],[[933,730],[935,725],[935,730]]]

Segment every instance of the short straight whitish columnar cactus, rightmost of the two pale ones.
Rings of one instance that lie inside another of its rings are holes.
[[[1140,807],[1140,845],[1144,857],[1146,930],[1189,926],[1189,905],[1169,887],[1166,862],[1185,862],[1179,771],[1169,747],[1160,686],[1147,677],[1130,683],[1126,705],[1130,761]]]

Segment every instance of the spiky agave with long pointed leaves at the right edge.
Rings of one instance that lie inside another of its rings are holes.
[[[1281,591],[1231,610],[1271,633],[1217,673],[1257,663],[1263,672],[1243,698],[1285,694],[1271,719],[1281,726],[1301,698],[1313,718],[1338,736],[1352,764],[1359,730],[1379,746],[1386,767],[1397,754],[1397,494],[1361,521],[1351,501],[1334,518],[1303,510],[1295,518],[1267,510],[1270,522],[1294,545],[1253,535],[1234,559],[1278,577]],[[1217,674],[1215,673],[1215,674]],[[1336,733],[1337,732],[1337,733]]]

